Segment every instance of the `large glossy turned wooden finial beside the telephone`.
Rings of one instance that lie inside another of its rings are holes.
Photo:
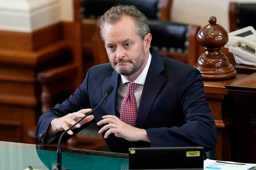
[[[197,42],[205,49],[194,65],[202,74],[203,80],[225,80],[236,76],[236,70],[228,58],[221,53],[227,44],[227,31],[216,24],[216,17],[209,18],[209,24],[201,28],[197,34]]]

